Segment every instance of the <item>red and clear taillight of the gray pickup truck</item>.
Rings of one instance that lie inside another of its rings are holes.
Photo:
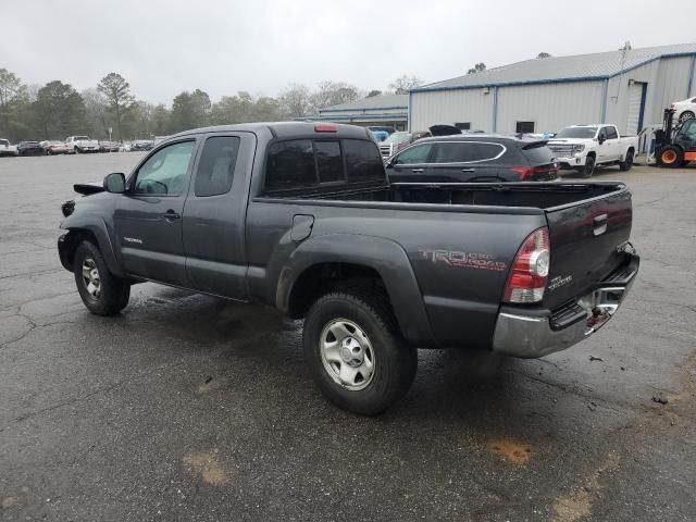
[[[537,228],[527,236],[514,257],[502,300],[517,303],[540,301],[549,262],[548,228]]]

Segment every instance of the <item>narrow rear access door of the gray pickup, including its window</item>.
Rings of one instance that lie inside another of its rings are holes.
[[[186,272],[194,288],[245,299],[248,175],[256,137],[209,134],[200,149],[184,207]]]

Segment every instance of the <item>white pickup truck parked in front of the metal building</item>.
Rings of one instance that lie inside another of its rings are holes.
[[[616,125],[571,125],[548,144],[561,169],[574,169],[583,177],[592,176],[597,165],[619,165],[631,170],[638,148],[636,136],[620,136]]]

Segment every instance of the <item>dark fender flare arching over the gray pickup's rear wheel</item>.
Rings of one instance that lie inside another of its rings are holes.
[[[411,344],[434,345],[435,339],[413,268],[403,248],[390,239],[358,234],[330,234],[302,243],[283,266],[276,307],[287,313],[299,277],[323,263],[350,263],[375,270],[387,290],[403,337]]]

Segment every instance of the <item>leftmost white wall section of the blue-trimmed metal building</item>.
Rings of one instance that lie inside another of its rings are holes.
[[[432,125],[471,122],[472,129],[490,130],[493,126],[493,88],[436,90],[411,94],[411,130]]]

